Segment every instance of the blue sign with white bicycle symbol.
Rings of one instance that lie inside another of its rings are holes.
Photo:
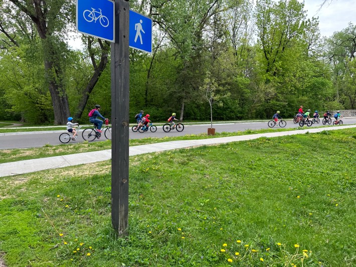
[[[115,3],[110,0],[77,0],[77,30],[115,42]]]

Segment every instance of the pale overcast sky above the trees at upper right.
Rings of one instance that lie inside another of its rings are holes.
[[[301,2],[301,1],[300,1]],[[319,17],[319,29],[322,36],[331,36],[334,32],[345,29],[349,22],[356,25],[356,0],[304,0],[304,10],[308,18]]]

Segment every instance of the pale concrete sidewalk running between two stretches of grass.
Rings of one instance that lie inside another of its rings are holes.
[[[204,145],[226,144],[230,142],[246,141],[246,140],[252,140],[261,137],[272,138],[272,137],[281,137],[281,136],[292,136],[292,135],[303,134],[306,132],[313,133],[313,132],[320,132],[323,130],[338,130],[338,129],[347,129],[347,128],[354,128],[354,127],[356,127],[356,125],[345,125],[345,126],[323,127],[323,128],[306,128],[303,130],[258,133],[256,135],[211,138],[211,139],[202,139],[202,140],[171,141],[171,142],[130,147],[129,156],[174,150],[174,149],[204,146]],[[71,155],[41,158],[35,160],[2,163],[0,164],[0,177],[92,163],[94,162],[93,159],[95,159],[95,161],[110,160],[111,150],[86,152],[80,154],[71,154]]]

